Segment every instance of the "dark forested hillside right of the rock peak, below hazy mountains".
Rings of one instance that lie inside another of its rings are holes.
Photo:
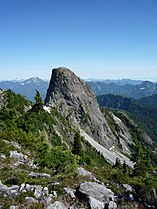
[[[100,107],[124,110],[142,127],[147,134],[157,143],[157,106],[156,95],[139,100],[118,95],[97,96]]]

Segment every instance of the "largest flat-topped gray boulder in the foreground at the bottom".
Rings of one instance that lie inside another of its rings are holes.
[[[92,197],[103,203],[108,203],[109,198],[114,199],[114,193],[110,189],[107,189],[104,185],[96,182],[85,182],[80,184],[79,188],[77,188],[76,195],[87,199]]]

